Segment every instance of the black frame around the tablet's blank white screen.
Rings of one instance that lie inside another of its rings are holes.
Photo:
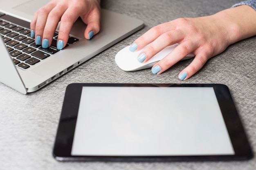
[[[76,118],[82,88],[93,87],[213,87],[224,118],[234,155],[202,156],[73,156],[71,155]],[[223,84],[130,84],[130,83],[73,83],[67,86],[61,117],[53,148],[58,161],[230,161],[248,160],[253,157],[242,122],[232,96]]]

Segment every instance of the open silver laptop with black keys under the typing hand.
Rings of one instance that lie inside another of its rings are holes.
[[[86,25],[78,19],[66,48],[57,50],[53,43],[45,50],[35,46],[34,38],[30,37],[29,22],[34,12],[49,1],[1,2],[0,57],[4,64],[0,67],[0,82],[22,94],[44,87],[144,26],[136,18],[101,9],[101,30],[92,39],[84,38]]]

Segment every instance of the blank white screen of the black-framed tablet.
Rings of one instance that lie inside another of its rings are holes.
[[[83,87],[71,155],[234,155],[213,87]]]

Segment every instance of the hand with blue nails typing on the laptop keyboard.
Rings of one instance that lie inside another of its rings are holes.
[[[52,0],[34,14],[30,24],[31,37],[35,38],[36,45],[48,48],[61,21],[56,42],[61,50],[66,46],[78,17],[87,24],[85,38],[91,39],[100,30],[100,0]]]

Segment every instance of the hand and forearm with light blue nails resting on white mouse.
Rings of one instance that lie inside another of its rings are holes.
[[[214,15],[179,18],[155,26],[136,39],[130,51],[140,50],[149,44],[138,55],[138,61],[142,63],[165,47],[178,43],[151,70],[154,74],[161,74],[192,52],[195,58],[178,76],[180,80],[186,80],[200,70],[208,59],[223,52],[230,44],[256,35],[255,28],[256,11],[243,5]]]

